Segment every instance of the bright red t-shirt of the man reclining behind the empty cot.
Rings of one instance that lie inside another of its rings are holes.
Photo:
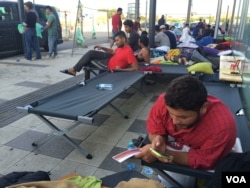
[[[116,48],[115,54],[108,61],[108,69],[115,70],[117,67],[121,69],[127,68],[130,64],[136,63],[136,58],[129,45],[122,48]]]

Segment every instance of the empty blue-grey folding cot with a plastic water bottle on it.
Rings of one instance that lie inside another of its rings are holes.
[[[77,121],[68,130],[76,127],[79,124],[78,122],[92,123],[94,121],[92,116],[106,105],[110,105],[127,118],[111,102],[143,77],[144,74],[140,72],[105,72],[87,81],[85,86],[72,86],[67,90],[35,101],[32,104],[17,107],[17,109],[37,115],[54,131],[53,134],[63,136],[82,155],[91,159],[91,154],[79,147],[78,144],[67,136],[64,130],[53,124],[47,116]],[[100,83],[113,84],[114,88],[111,91],[98,90],[96,85]],[[35,146],[37,144],[33,143],[32,145]]]

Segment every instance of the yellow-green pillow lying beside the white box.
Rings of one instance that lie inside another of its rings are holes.
[[[212,69],[212,64],[209,62],[200,62],[194,65],[191,65],[187,68],[188,72],[199,72],[204,74],[214,74]]]

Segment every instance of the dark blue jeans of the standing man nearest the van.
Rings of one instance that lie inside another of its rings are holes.
[[[36,52],[36,59],[41,59],[40,47],[36,36],[36,29],[25,30],[26,59],[32,60],[32,49]]]

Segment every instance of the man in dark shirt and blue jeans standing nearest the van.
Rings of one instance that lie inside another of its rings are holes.
[[[25,58],[32,60],[32,49],[36,52],[36,59],[41,59],[40,47],[36,36],[36,22],[38,20],[36,13],[33,11],[33,3],[28,1],[24,3],[24,10],[26,12],[26,20],[23,22],[25,26]]]

